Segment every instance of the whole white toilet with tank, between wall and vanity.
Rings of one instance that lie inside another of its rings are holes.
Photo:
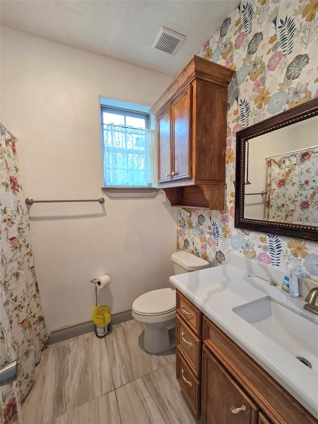
[[[188,252],[171,255],[174,274],[209,268],[206,260]],[[145,326],[144,349],[162,353],[175,346],[175,290],[162,288],[139,296],[133,303],[132,316]]]

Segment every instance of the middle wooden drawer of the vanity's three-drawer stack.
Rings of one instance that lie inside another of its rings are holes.
[[[190,330],[178,314],[176,315],[176,346],[194,374],[200,378],[202,341]]]

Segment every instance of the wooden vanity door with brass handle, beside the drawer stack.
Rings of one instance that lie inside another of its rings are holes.
[[[206,346],[202,361],[202,424],[257,424],[257,405]]]

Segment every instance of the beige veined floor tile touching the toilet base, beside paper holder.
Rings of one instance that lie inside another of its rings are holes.
[[[104,340],[115,388],[151,372],[133,326],[113,329]]]

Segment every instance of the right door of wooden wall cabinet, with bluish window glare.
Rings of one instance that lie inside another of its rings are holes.
[[[172,180],[191,177],[192,99],[188,85],[171,104]]]

